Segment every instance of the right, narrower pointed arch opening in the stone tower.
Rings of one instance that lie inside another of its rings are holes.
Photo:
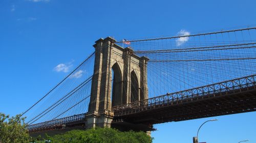
[[[134,71],[131,72],[131,102],[139,100],[139,82]]]

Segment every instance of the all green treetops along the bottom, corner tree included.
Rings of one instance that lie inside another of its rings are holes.
[[[25,118],[21,118],[20,115],[10,118],[8,115],[0,113],[0,143],[150,143],[152,139],[144,132],[121,132],[112,128],[95,128],[72,130],[64,134],[47,136],[45,139],[38,137],[33,140],[26,129]]]

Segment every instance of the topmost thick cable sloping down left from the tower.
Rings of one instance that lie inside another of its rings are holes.
[[[45,96],[43,96],[41,99],[39,99],[35,104],[33,104],[30,108],[28,108],[25,112],[20,115],[22,117],[26,112],[28,112],[31,108],[33,108],[36,104],[38,104],[42,99],[44,99],[46,96],[48,96],[54,89],[58,87],[59,84],[61,84],[63,81],[65,81],[71,74],[73,74],[83,63],[85,63],[88,59],[90,59],[93,54],[93,52],[86,60],[84,60],[79,66],[77,66],[68,76],[66,76],[63,80],[61,80],[52,90],[50,90]]]

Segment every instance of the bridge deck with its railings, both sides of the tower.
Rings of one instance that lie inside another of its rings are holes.
[[[112,107],[113,127],[120,121],[158,124],[256,110],[256,75]],[[84,126],[86,113],[28,126],[29,133]]]

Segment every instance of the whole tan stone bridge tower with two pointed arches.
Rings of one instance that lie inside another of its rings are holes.
[[[94,75],[87,115],[87,127],[110,127],[112,106],[148,98],[147,61],[145,56],[133,54],[115,39],[99,39],[95,48]]]

